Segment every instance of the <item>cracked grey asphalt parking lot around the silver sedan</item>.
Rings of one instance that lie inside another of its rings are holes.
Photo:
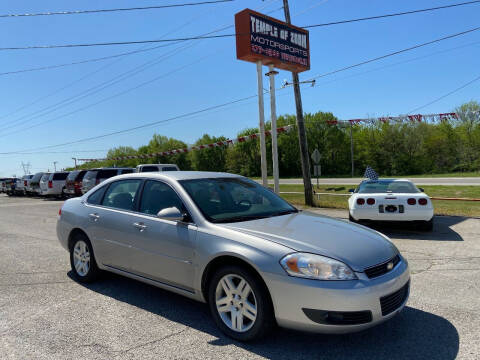
[[[60,206],[0,194],[0,359],[480,358],[480,219],[437,217],[432,233],[378,228],[412,271],[410,301],[391,321],[341,336],[278,329],[242,344],[204,304],[116,275],[73,281],[55,234]]]

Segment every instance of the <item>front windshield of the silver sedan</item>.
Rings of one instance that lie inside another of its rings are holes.
[[[180,183],[211,222],[254,220],[298,211],[270,190],[245,178],[194,179]]]

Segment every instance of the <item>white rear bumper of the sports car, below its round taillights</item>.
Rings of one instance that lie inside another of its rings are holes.
[[[350,209],[350,215],[355,220],[372,221],[429,221],[433,217],[433,208],[410,208],[405,207],[404,213],[380,213],[377,206],[355,207]]]

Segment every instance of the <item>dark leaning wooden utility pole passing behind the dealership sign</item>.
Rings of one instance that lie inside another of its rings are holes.
[[[288,0],[283,0],[283,11],[285,12],[285,21],[291,24],[290,9]],[[310,177],[310,161],[308,156],[307,134],[305,132],[305,122],[303,120],[302,95],[300,94],[300,81],[298,73],[292,72],[293,92],[295,94],[295,105],[297,108],[297,129],[298,142],[300,144],[300,160],[302,163],[303,186],[305,188],[305,205],[313,206],[312,179]]]

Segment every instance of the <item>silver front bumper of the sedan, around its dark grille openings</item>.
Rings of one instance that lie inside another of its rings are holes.
[[[393,294],[410,280],[408,263],[405,259],[389,273],[368,279],[365,273],[356,273],[358,280],[319,281],[296,278],[288,275],[264,274],[270,290],[278,325],[290,329],[319,333],[341,334],[360,331],[380,324],[397,314],[405,306],[405,300],[387,315],[382,315],[380,298]],[[325,312],[371,313],[371,321],[354,325],[332,325],[313,321],[305,310]]]

